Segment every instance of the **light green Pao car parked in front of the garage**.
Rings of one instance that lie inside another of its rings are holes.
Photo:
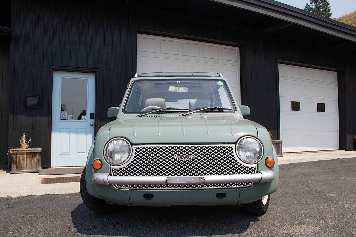
[[[136,74],[96,134],[80,179],[87,207],[242,204],[267,211],[278,185],[268,131],[244,119],[219,73]]]

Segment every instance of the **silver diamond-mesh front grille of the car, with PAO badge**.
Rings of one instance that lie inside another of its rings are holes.
[[[133,146],[133,157],[124,167],[111,167],[113,176],[210,176],[223,174],[253,174],[257,165],[241,163],[235,155],[235,145],[145,145]],[[181,155],[194,156],[178,160]],[[248,187],[253,183],[126,185],[124,189],[199,189]]]

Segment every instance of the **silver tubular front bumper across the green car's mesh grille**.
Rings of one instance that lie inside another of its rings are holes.
[[[94,173],[91,179],[95,184],[146,184],[146,185],[174,185],[174,184],[223,184],[223,183],[267,183],[274,180],[273,171],[260,171],[255,174],[234,174],[214,176],[111,176],[110,173]]]

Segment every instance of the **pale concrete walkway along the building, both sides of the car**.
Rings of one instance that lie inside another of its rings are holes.
[[[284,153],[278,157],[279,165],[297,162],[308,162],[317,160],[331,160],[338,158],[356,157],[356,151],[324,151],[305,153]],[[52,195],[63,193],[78,193],[79,182],[41,184],[48,178],[61,180],[78,180],[80,174],[57,174],[41,175],[38,173],[15,173],[10,174],[8,170],[0,170],[0,197],[19,197],[26,195]],[[70,178],[73,177],[73,178]],[[42,180],[44,179],[44,180]]]

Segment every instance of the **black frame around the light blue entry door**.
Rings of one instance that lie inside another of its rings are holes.
[[[49,72],[48,72],[48,78],[50,79],[50,88],[49,88],[49,103],[48,103],[48,135],[49,139],[47,140],[47,147],[48,147],[48,168],[52,168],[52,99],[53,99],[53,71],[67,71],[67,72],[86,72],[86,73],[93,73],[95,74],[95,113],[94,113],[94,137],[98,131],[98,128],[96,127],[97,124],[97,112],[98,112],[98,103],[96,101],[96,98],[98,98],[97,93],[98,90],[98,81],[99,81],[99,69],[94,69],[94,68],[74,68],[74,67],[63,67],[63,66],[50,66],[49,67]],[[45,158],[45,157],[43,157]],[[42,158],[41,158],[42,159]]]

